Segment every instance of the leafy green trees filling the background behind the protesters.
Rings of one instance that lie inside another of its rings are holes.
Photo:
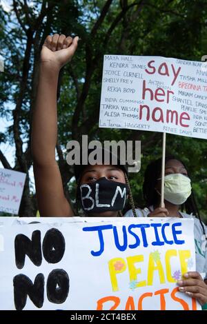
[[[57,159],[64,190],[75,199],[73,170],[66,163],[66,143],[88,134],[90,139],[141,140],[141,171],[132,174],[136,205],[143,203],[141,183],[146,165],[161,156],[161,133],[99,129],[103,54],[161,55],[200,61],[207,54],[206,0],[14,0],[6,13],[0,7],[0,52],[5,72],[0,75],[0,114],[12,120],[0,140],[15,148],[14,170],[32,166],[30,130],[37,92],[39,53],[46,35],[79,35],[81,41],[70,65],[59,77],[59,140]],[[207,143],[167,136],[168,154],[181,158],[192,175],[201,216],[207,212]],[[10,163],[0,151],[5,168]],[[19,214],[33,216],[35,194],[27,176]]]

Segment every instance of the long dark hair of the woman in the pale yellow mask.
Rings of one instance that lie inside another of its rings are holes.
[[[166,156],[165,163],[167,163],[170,160],[177,160],[177,161],[181,162],[182,165],[184,165],[184,167],[186,168],[186,165],[180,159],[177,159],[175,156]],[[186,170],[187,170],[187,168],[186,168]],[[144,199],[146,201],[147,207],[149,207],[150,205],[153,205],[153,206],[159,205],[160,196],[157,193],[157,191],[155,190],[155,187],[157,185],[157,179],[159,179],[160,174],[161,174],[161,158],[157,159],[155,161],[152,161],[147,166],[145,174],[144,174],[144,183],[143,183],[142,190],[143,190],[143,195],[144,195]],[[188,174],[188,176],[189,176],[189,174]],[[186,202],[183,205],[181,205],[181,211],[183,211],[183,210],[185,210],[187,214],[193,213],[193,215],[197,216],[197,218],[199,219],[199,221],[201,223],[201,227],[204,231],[204,234],[206,234],[205,229],[204,229],[204,224],[201,221],[199,210],[197,208],[193,190],[192,190],[190,196],[188,197],[188,199],[186,200]]]

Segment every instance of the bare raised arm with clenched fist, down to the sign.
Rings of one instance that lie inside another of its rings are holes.
[[[32,155],[41,216],[73,216],[55,161],[57,143],[57,81],[59,70],[77,48],[78,37],[48,36],[41,50],[37,101],[32,121]]]

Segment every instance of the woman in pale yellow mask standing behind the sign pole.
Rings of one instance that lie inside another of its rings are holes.
[[[188,272],[186,280],[178,281],[180,292],[185,292],[197,298],[201,305],[207,303],[207,253],[205,237],[206,226],[202,223],[193,192],[190,178],[184,163],[173,156],[166,158],[164,178],[164,204],[159,207],[161,200],[161,159],[153,161],[146,168],[144,174],[143,194],[146,201],[144,210],[136,209],[137,216],[143,217],[192,217],[197,216],[194,222],[196,270]],[[186,212],[182,212],[186,210]],[[133,216],[129,210],[126,217]],[[204,280],[200,274],[204,274]],[[206,283],[205,283],[206,282]]]

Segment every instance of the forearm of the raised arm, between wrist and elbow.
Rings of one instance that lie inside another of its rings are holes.
[[[55,161],[57,143],[57,82],[59,68],[43,62],[32,121],[32,156],[37,165]]]

